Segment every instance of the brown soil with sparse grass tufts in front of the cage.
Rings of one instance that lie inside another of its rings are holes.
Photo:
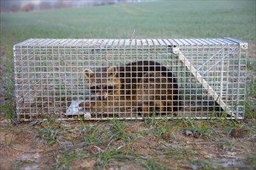
[[[19,122],[2,112],[0,128],[1,170],[256,169],[254,118]]]

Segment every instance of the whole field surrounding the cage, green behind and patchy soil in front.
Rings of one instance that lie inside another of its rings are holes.
[[[255,5],[255,1],[242,0],[161,1],[1,13],[0,167],[256,168]],[[85,123],[51,117],[30,123],[16,120],[14,44],[29,38],[130,39],[133,29],[134,39],[232,37],[249,42],[246,119],[238,122],[152,118]],[[188,131],[192,134],[185,134]]]

